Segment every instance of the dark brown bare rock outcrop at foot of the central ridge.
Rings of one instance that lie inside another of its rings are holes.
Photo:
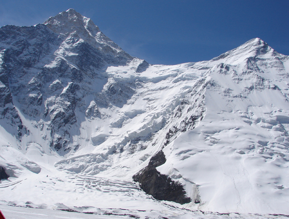
[[[156,167],[165,162],[164,153],[159,151],[151,158],[147,167],[133,176],[133,180],[139,182],[143,191],[158,200],[175,201],[180,204],[191,202],[191,198],[186,196],[186,192],[180,183],[156,170]]]

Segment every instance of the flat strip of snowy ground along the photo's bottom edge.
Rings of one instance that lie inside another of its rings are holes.
[[[0,204],[6,219],[286,219],[286,215],[258,215],[239,213],[212,213],[168,208],[167,210],[128,210],[80,207],[74,209],[61,204],[53,209],[7,206]]]

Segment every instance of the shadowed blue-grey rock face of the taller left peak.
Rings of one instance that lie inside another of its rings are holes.
[[[77,118],[76,110],[86,112],[90,119],[100,118],[97,105],[90,105],[91,101],[105,103],[106,107],[123,106],[134,93],[126,83],[115,81],[101,92],[107,82],[102,68],[126,65],[133,57],[73,9],[44,24],[3,26],[0,41],[0,116],[12,120],[12,134],[19,141],[27,130],[23,129],[12,95],[24,116],[37,117],[42,130],[50,132],[42,136],[49,145],[59,153],[67,153],[73,144],[73,130],[78,130],[84,120]],[[95,100],[86,101],[89,95],[95,95]]]

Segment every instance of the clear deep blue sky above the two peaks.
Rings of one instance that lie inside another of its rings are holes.
[[[0,0],[0,26],[69,8],[151,64],[209,60],[256,37],[289,55],[289,0]]]

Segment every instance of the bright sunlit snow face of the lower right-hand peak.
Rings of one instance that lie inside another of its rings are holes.
[[[196,184],[199,209],[288,214],[288,63],[254,39],[192,66],[210,75],[206,116],[164,148],[170,161],[157,170]]]

